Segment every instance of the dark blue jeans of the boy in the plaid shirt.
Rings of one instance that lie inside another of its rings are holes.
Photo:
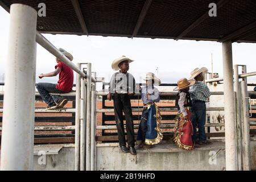
[[[205,102],[195,102],[192,101],[191,107],[191,122],[193,125],[193,135],[192,140],[199,140],[200,142],[204,142],[207,140],[207,136],[205,134],[205,119],[206,119],[206,106]],[[198,127],[199,135],[196,134],[196,127]]]

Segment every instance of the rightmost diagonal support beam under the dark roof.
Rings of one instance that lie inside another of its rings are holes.
[[[225,36],[224,38],[220,39],[219,42],[225,42],[228,40],[237,40],[237,38],[238,40],[241,40],[242,38],[255,34],[254,28],[256,28],[256,21],[253,23],[247,24],[246,26],[238,29],[237,31],[234,31],[232,34]]]

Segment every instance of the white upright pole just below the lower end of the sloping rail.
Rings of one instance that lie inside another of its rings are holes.
[[[81,114],[80,114],[80,170],[85,171],[85,142],[86,142],[86,121],[85,121],[85,78],[81,79]]]

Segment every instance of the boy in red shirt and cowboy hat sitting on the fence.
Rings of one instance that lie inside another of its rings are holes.
[[[59,48],[69,60],[73,60],[71,53],[68,53],[62,48]],[[49,93],[68,93],[71,92],[73,87],[73,70],[65,65],[61,60],[56,58],[57,65],[55,71],[51,73],[41,73],[39,78],[52,77],[59,74],[59,81],[57,84],[39,82],[36,84],[36,88],[44,102],[48,104],[47,109],[60,109],[67,104],[68,100],[61,96],[51,96]]]

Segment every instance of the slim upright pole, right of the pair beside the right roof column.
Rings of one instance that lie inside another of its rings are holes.
[[[242,73],[246,73],[246,65],[242,66]],[[243,170],[251,170],[251,155],[250,155],[250,119],[249,119],[249,106],[248,106],[248,90],[247,90],[247,78],[244,77],[241,82],[241,97],[243,107]]]

